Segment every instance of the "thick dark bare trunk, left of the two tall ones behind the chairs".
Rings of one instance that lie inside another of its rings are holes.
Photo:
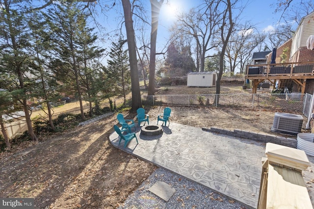
[[[127,31],[127,40],[129,48],[129,60],[131,69],[131,89],[132,89],[132,110],[135,111],[142,107],[141,92],[139,89],[137,58],[136,58],[136,46],[135,36],[133,29],[133,20],[131,13],[131,3],[129,0],[121,0],[124,11],[125,26]]]

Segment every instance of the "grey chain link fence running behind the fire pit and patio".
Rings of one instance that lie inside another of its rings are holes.
[[[238,110],[264,110],[309,116],[311,94],[200,94],[143,96],[144,105],[204,106]],[[306,112],[305,112],[306,111]]]

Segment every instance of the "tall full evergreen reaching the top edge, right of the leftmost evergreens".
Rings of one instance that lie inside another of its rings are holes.
[[[86,89],[82,84],[84,84],[86,77],[83,78],[84,65],[80,66],[80,63],[84,63],[84,59],[87,60],[88,56],[88,49],[83,40],[85,35],[89,33],[86,27],[87,18],[88,14],[79,8],[77,2],[57,4],[46,14],[53,49],[53,59],[50,66],[68,93],[74,91],[73,93],[78,97],[83,120],[85,120],[85,116],[82,101]],[[90,40],[92,42],[88,44],[95,41],[94,38]]]

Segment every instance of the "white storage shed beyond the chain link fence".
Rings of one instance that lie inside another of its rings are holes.
[[[187,86],[213,87],[216,86],[217,73],[215,71],[187,73]]]

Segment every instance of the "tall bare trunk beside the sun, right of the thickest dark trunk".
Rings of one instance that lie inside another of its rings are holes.
[[[151,0],[152,7],[152,30],[151,30],[151,54],[149,61],[149,86],[148,95],[154,95],[155,93],[155,68],[156,68],[156,42],[157,42],[157,29],[159,12],[163,0]]]

